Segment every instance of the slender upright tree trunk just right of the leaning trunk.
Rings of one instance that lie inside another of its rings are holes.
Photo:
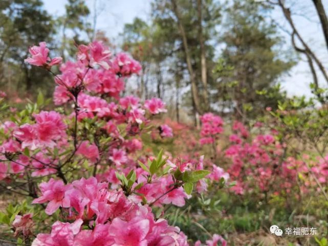
[[[198,38],[200,42],[201,50],[201,74],[203,83],[203,97],[205,110],[209,110],[208,93],[207,93],[207,68],[206,68],[206,55],[205,55],[205,45],[203,37],[203,27],[202,27],[202,0],[197,0],[197,13],[198,13]]]

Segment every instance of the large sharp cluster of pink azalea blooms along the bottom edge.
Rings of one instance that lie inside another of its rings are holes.
[[[150,207],[108,186],[95,177],[67,185],[53,179],[41,183],[42,195],[33,203],[49,202],[48,214],[61,207],[75,222],[55,222],[51,233],[38,234],[32,245],[187,245],[179,228],[155,220]]]

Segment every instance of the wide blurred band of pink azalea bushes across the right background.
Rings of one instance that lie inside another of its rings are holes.
[[[244,124],[235,121],[232,132],[225,135],[220,117],[208,113],[201,117],[201,121],[200,144],[212,146],[214,160],[227,163],[228,167],[226,172],[212,164],[208,177],[213,181],[228,182],[230,190],[237,195],[265,194],[267,198],[270,193],[287,197],[294,191],[293,196],[298,199],[299,190],[307,193],[318,189],[313,174],[318,177],[318,182],[326,183],[328,158],[317,158],[315,161],[309,160],[309,156],[303,156],[303,161],[292,156],[286,158],[287,146],[278,141],[274,129],[271,133],[250,133]],[[260,127],[259,123],[254,125],[255,129]],[[220,139],[227,139],[223,141],[223,150],[221,146],[216,148]],[[218,158],[217,154],[220,154]]]

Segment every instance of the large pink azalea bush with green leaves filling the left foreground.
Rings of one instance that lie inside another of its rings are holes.
[[[141,135],[149,128],[160,138],[171,138],[172,129],[150,120],[166,112],[161,99],[143,103],[120,96],[124,79],[139,74],[140,64],[127,54],[113,56],[99,41],[80,45],[76,61],[51,59],[45,42],[30,54],[26,62],[54,74],[53,101],[61,107],[47,110],[39,95],[37,104],[2,123],[0,182],[31,196],[45,225],[52,225],[35,233],[37,218],[19,211],[11,216],[15,236],[33,246],[189,245],[186,235],[155,217],[152,208],[184,206],[194,186],[206,190],[205,177],[225,174],[204,170],[203,157],[183,162],[163,151],[141,155]],[[208,115],[203,121],[204,137],[222,131],[221,118]],[[15,185],[22,179],[25,186]],[[218,235],[206,243],[226,245]]]

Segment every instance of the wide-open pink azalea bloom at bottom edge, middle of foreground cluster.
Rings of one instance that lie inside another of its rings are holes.
[[[124,230],[122,230],[124,228]],[[110,228],[110,235],[116,246],[147,246],[145,239],[149,231],[149,220],[136,217],[131,221],[115,218]]]

